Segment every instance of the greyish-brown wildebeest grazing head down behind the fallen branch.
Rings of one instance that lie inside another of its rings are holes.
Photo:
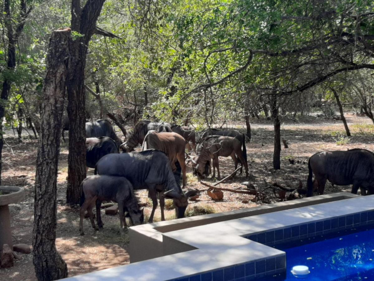
[[[194,173],[201,178],[207,173],[207,166],[209,165],[210,159],[213,159],[213,178],[215,177],[215,168],[217,167],[218,178],[221,178],[220,169],[218,164],[218,156],[228,157],[231,156],[235,163],[235,169],[237,168],[237,159],[243,163],[245,167],[245,173],[248,176],[248,165],[243,158],[242,149],[240,148],[240,142],[233,137],[228,136],[209,136],[205,141],[197,148],[196,156],[192,159],[194,167]]]

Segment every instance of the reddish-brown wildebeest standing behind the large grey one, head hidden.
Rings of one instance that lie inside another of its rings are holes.
[[[183,173],[183,187],[186,187],[186,163],[184,159],[186,140],[177,133],[158,133],[155,130],[150,130],[145,135],[142,150],[150,148],[161,150],[168,155],[173,172],[177,170],[175,161],[178,160]]]

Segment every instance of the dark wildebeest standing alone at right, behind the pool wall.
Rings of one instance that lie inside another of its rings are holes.
[[[334,185],[353,184],[351,192],[354,194],[359,187],[362,194],[366,193],[365,188],[370,194],[374,191],[374,154],[366,149],[317,152],[309,158],[308,167],[308,197],[313,195],[313,185],[318,186],[320,195],[324,194],[327,179]]]

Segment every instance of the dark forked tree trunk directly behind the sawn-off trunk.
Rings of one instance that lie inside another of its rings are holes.
[[[86,96],[85,67],[88,44],[96,28],[105,0],[88,0],[82,8],[80,0],[71,1],[71,30],[74,36],[70,45],[69,77],[67,82],[69,117],[68,185],[66,201],[79,203],[82,193],[80,183],[86,177]]]

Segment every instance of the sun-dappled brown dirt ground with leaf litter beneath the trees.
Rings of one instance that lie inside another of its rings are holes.
[[[374,126],[366,117],[356,117],[347,114],[348,125],[352,137],[344,137],[344,127],[341,121],[309,118],[308,120],[294,123],[292,121],[282,122],[282,138],[289,143],[289,148],[281,152],[281,170],[273,170],[273,125],[271,121],[252,120],[252,141],[246,143],[249,179],[245,174],[237,175],[232,180],[220,184],[219,187],[238,188],[240,182],[250,181],[256,187],[264,188],[267,182],[278,182],[286,187],[296,188],[301,180],[306,187],[308,174],[307,160],[315,152],[321,150],[346,150],[351,148],[366,148],[373,151]],[[232,125],[234,129],[243,130],[242,124]],[[17,185],[25,188],[26,197],[22,202],[10,205],[12,234],[15,243],[32,244],[33,230],[33,196],[35,181],[35,163],[37,155],[37,141],[31,140],[29,135],[24,135],[24,142],[18,143],[12,131],[5,135],[6,145],[3,150],[3,185]],[[84,223],[85,236],[79,235],[79,207],[67,206],[65,203],[66,177],[67,177],[67,144],[62,143],[59,175],[58,175],[58,221],[56,247],[67,262],[69,276],[83,274],[100,269],[125,265],[129,262],[128,236],[120,236],[119,218],[103,214],[104,229],[94,231],[90,227],[89,220]],[[293,159],[295,164],[290,164]],[[234,170],[231,158],[220,158],[221,177],[229,175]],[[93,170],[88,172],[93,174]],[[191,167],[188,166],[187,188],[206,189],[192,175]],[[214,183],[216,179],[205,179],[208,183]],[[350,187],[332,187],[327,183],[325,193],[337,191],[350,191]],[[266,202],[276,202],[272,192],[268,192]],[[145,207],[146,215],[150,214],[151,204],[147,199],[145,191],[138,192],[140,201],[148,203]],[[213,201],[203,193],[197,201],[191,201],[188,208],[190,214],[193,206],[203,209],[224,212],[234,209],[250,208],[263,204],[253,203],[250,200],[254,196],[237,194],[224,191],[224,199]],[[249,203],[242,203],[248,200]],[[102,212],[104,212],[102,210]],[[174,217],[174,211],[166,211],[166,219]],[[157,208],[155,220],[160,220],[160,209]],[[10,269],[0,269],[0,281],[7,280],[36,280],[31,254],[20,254],[21,259],[16,260],[15,266]]]

